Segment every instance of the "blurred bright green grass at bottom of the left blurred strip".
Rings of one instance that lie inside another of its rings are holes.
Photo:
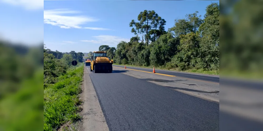
[[[0,130],[43,130],[43,67],[15,88],[0,98]]]

